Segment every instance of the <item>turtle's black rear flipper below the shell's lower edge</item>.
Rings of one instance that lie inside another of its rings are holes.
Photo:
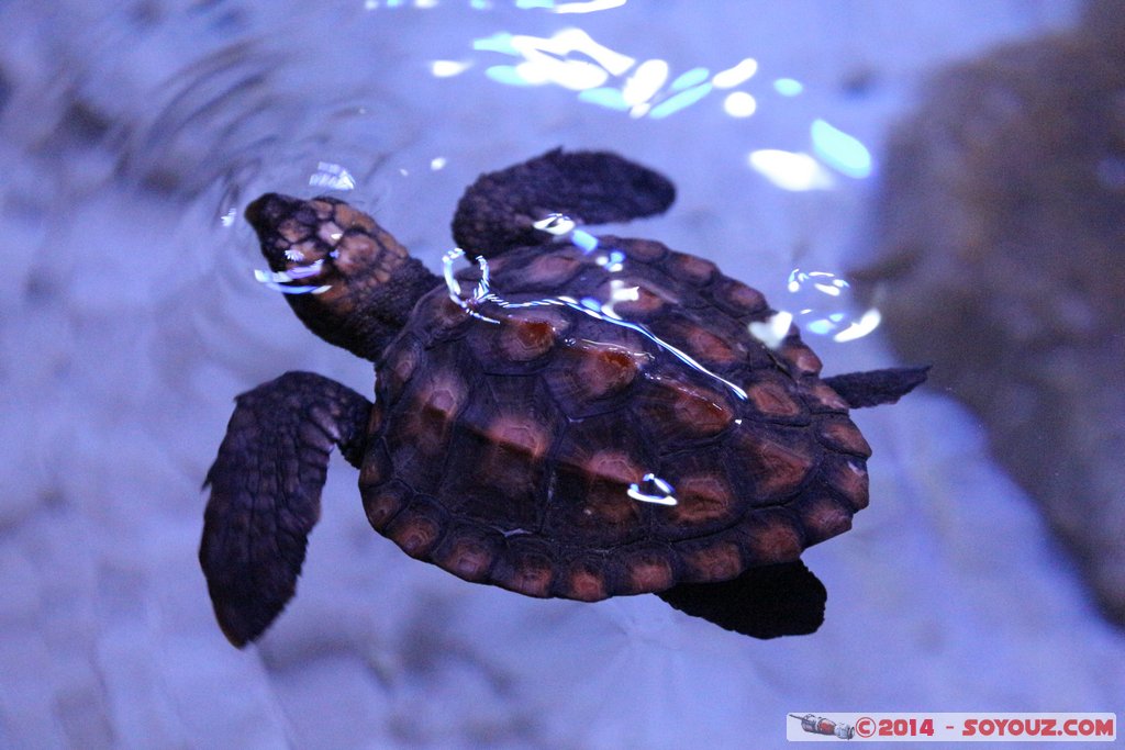
[[[716,584],[680,584],[657,596],[726,630],[768,639],[814,633],[825,621],[828,591],[794,560],[748,568]]]

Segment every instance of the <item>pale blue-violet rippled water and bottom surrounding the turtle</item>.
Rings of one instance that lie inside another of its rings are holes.
[[[630,234],[800,313],[794,269],[860,265],[888,123],[924,75],[1076,18],[1063,0],[0,3],[0,747],[770,748],[788,713],[1125,705],[1125,638],[957,391],[856,415],[872,503],[806,554],[829,589],[810,638],[465,584],[375,534],[342,461],[259,645],[223,639],[196,561],[235,394],[292,369],[371,388],[254,281],[256,195],[331,191],[436,268],[479,172],[613,148],[680,188]],[[1073,298],[1063,320],[1095,305]],[[882,329],[810,342],[828,373],[894,362]]]

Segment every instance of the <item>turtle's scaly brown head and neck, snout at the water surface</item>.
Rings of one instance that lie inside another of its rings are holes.
[[[325,341],[375,360],[440,280],[367,214],[338,198],[269,192],[245,211],[297,317]]]

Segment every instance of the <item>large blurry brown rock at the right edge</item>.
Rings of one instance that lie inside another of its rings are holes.
[[[888,146],[855,275],[980,415],[1125,625],[1125,6],[943,71]]]

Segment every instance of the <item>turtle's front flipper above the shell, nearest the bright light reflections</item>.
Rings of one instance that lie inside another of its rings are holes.
[[[676,198],[665,177],[604,151],[561,148],[482,174],[461,197],[453,240],[469,255],[551,240],[534,224],[562,214],[577,224],[610,224],[663,214]]]

